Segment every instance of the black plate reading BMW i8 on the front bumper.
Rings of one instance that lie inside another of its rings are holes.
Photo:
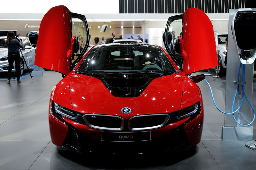
[[[101,132],[102,141],[134,142],[151,140],[151,131],[146,132]]]

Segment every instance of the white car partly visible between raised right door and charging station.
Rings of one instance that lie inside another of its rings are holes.
[[[228,38],[228,33],[214,33],[216,50],[220,50],[219,54],[219,75],[223,74],[226,71],[226,66],[224,64],[225,57],[227,54],[226,50],[226,38]],[[215,72],[217,74],[217,67],[215,67]]]

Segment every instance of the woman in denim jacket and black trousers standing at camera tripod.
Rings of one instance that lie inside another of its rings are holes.
[[[15,34],[12,31],[8,31],[7,38],[5,40],[5,45],[8,49],[8,78],[6,83],[10,84],[11,73],[13,68],[13,61],[15,62],[16,72],[17,72],[17,83],[20,82],[20,53],[19,47],[23,48],[21,40],[15,38]]]

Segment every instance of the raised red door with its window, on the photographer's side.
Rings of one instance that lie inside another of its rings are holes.
[[[53,7],[40,24],[35,65],[67,75],[82,58],[88,44],[85,16],[72,13],[63,5]]]

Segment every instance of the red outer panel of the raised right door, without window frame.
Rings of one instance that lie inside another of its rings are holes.
[[[210,19],[204,11],[188,8],[183,14],[183,72],[187,75],[218,65],[214,32]]]

